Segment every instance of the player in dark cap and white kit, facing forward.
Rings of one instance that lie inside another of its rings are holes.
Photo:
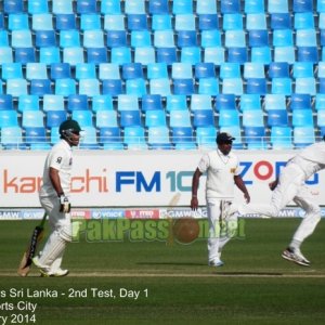
[[[246,202],[250,199],[248,191],[239,176],[239,160],[231,152],[233,140],[235,138],[229,133],[219,133],[217,135],[217,150],[202,157],[192,180],[191,208],[192,210],[196,210],[198,207],[197,188],[199,178],[203,173],[207,172],[208,260],[209,265],[217,268],[223,265],[223,261],[220,259],[222,248],[237,229],[236,214],[222,218],[224,216],[223,211],[227,209],[234,199],[234,185],[244,193]]]

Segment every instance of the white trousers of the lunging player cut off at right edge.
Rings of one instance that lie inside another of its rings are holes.
[[[302,243],[315,230],[321,220],[321,209],[304,184],[304,173],[296,164],[288,164],[282,171],[270,204],[248,204],[238,207],[239,214],[258,213],[278,217],[281,209],[294,200],[306,211],[306,216],[294,234]]]

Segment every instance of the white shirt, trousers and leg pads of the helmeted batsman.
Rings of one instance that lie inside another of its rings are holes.
[[[49,174],[51,167],[58,170],[61,186],[65,196],[69,196],[73,154],[72,147],[65,140],[55,144],[48,154],[43,170],[43,183],[39,193],[40,203],[49,216],[51,227],[49,239],[39,260],[50,268],[50,272],[55,273],[60,269],[65,245],[72,240],[72,224],[70,214],[60,212],[61,203]]]

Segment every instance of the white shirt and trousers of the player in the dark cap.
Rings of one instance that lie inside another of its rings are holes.
[[[234,199],[234,176],[239,174],[239,160],[232,152],[223,155],[217,148],[202,157],[198,169],[202,173],[207,173],[208,257],[209,261],[213,261],[220,259],[221,248],[230,239],[227,236],[220,238],[221,203]]]

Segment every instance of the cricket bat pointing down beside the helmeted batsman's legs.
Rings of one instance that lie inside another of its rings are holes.
[[[20,276],[27,276],[30,271],[31,259],[36,253],[38,244],[41,242],[44,235],[46,220],[47,220],[47,213],[44,213],[41,223],[37,225],[32,232],[29,245],[23,255],[22,261],[17,270]]]

